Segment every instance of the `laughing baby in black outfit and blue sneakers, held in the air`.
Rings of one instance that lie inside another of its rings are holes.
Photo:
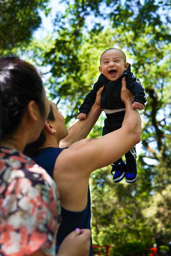
[[[91,106],[95,102],[97,91],[104,85],[100,99],[100,107],[104,109],[106,114],[102,131],[104,136],[122,127],[125,115],[125,105],[120,98],[123,76],[126,79],[126,87],[134,95],[132,109],[144,109],[147,95],[139,78],[131,72],[130,64],[126,62],[126,55],[122,50],[117,48],[105,50],[100,56],[99,71],[101,75],[79,108],[78,119],[83,120],[87,117]],[[125,154],[125,158],[126,164],[122,158],[112,164],[111,173],[113,181],[116,183],[122,181],[124,177],[128,183],[134,183],[137,180],[135,146]]]

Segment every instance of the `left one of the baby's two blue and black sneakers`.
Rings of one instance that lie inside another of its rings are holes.
[[[121,162],[120,164],[114,164],[112,166],[112,175],[113,175],[113,182],[117,183],[119,181],[122,181],[123,178],[125,177],[126,173],[126,164],[125,162]],[[113,174],[113,172],[115,172]]]

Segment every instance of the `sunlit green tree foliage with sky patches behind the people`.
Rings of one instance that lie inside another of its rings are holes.
[[[49,1],[0,0],[0,56],[17,55],[35,64],[46,79],[48,97],[65,109],[70,125],[98,78],[100,54],[110,47],[125,51],[149,97],[142,114],[138,181],[113,184],[110,166],[92,174],[93,244],[167,244],[171,238],[168,1],[63,0],[61,4],[53,32],[36,39],[33,32],[41,25],[42,12],[51,13]],[[90,137],[101,136],[103,119]]]

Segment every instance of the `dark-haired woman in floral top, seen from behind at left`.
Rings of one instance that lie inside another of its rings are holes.
[[[0,255],[55,255],[60,217],[56,185],[22,154],[26,144],[40,135],[48,112],[36,69],[17,58],[1,58]],[[89,237],[89,230],[72,232],[58,255],[88,255]]]

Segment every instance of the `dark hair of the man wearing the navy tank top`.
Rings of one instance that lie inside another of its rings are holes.
[[[51,105],[50,105],[50,111],[49,111],[47,120],[51,120],[51,121],[55,120],[53,109],[52,109]],[[36,141],[26,145],[23,153],[32,157],[43,146],[45,141],[46,141],[46,136],[45,136],[45,132],[43,130],[43,131],[41,131],[41,134]]]

